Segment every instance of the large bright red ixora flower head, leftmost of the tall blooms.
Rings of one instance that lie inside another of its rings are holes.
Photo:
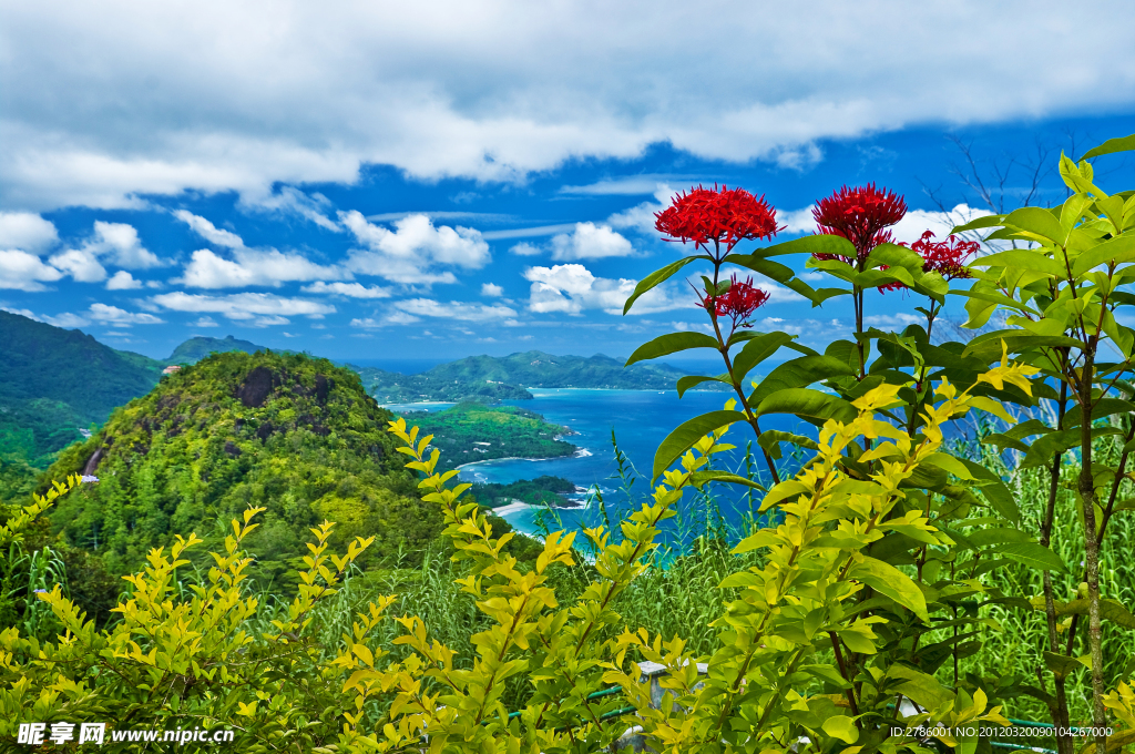
[[[692,241],[706,251],[713,243],[714,251],[724,246],[726,254],[741,241],[771,238],[782,229],[776,227],[776,210],[764,196],[757,199],[743,188],[718,188],[717,184],[678,194],[655,217],[654,227],[669,236],[665,241]]]

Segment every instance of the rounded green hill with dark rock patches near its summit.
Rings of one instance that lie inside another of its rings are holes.
[[[372,558],[420,551],[439,520],[394,450],[392,418],[355,374],[325,359],[213,354],[60,454],[50,478],[100,481],[68,496],[51,522],[112,572],[137,567],[175,534],[217,546],[249,505],[267,508],[249,543],[262,579],[305,555],[309,527],[325,519],[339,523],[335,543],[376,535]]]

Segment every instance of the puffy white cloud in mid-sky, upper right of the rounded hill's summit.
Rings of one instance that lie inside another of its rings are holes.
[[[394,231],[367,221],[361,212],[339,212],[345,225],[365,250],[351,253],[346,266],[354,273],[375,275],[392,283],[431,285],[455,283],[456,276],[439,269],[480,269],[489,262],[489,245],[479,231],[457,226],[434,227],[426,215],[394,221]]]

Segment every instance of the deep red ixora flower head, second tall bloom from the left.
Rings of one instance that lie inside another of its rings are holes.
[[[843,236],[855,246],[856,259],[838,254],[813,254],[816,259],[840,259],[861,262],[881,243],[891,241],[885,228],[907,213],[907,203],[894,192],[875,188],[875,184],[848,188],[843,186],[827,199],[821,199],[812,210],[819,233]]]

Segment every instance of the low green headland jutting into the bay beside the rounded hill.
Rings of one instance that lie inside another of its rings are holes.
[[[445,411],[412,411],[405,416],[423,434],[434,435],[432,445],[442,451],[446,468],[498,458],[557,458],[578,450],[556,439],[571,434],[568,427],[515,407],[459,403]]]

